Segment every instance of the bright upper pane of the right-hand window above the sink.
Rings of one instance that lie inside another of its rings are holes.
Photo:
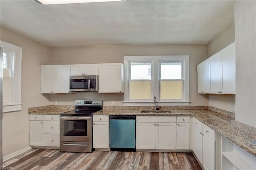
[[[182,79],[182,63],[168,62],[161,63],[161,78],[162,80]]]

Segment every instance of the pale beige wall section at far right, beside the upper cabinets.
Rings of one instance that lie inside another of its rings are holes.
[[[256,1],[235,1],[236,121],[256,127]]]

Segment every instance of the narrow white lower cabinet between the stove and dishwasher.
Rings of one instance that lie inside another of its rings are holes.
[[[93,147],[109,148],[109,117],[105,115],[93,116]]]

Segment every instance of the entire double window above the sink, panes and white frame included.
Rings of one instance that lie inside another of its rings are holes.
[[[125,56],[124,71],[124,105],[188,105],[188,55]]]

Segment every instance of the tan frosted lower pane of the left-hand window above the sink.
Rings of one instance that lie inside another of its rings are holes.
[[[130,99],[151,99],[151,80],[130,81]]]

